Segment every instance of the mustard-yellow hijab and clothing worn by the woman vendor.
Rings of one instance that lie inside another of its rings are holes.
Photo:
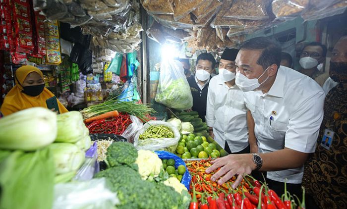
[[[1,105],[0,111],[2,112],[3,115],[9,115],[14,112],[31,108],[31,107],[36,107],[36,106],[42,106],[47,108],[46,100],[54,97],[54,94],[50,92],[46,87],[44,88],[43,92],[36,96],[32,97],[29,95],[26,95],[22,93],[23,87],[22,84],[25,80],[25,78],[29,75],[29,73],[32,72],[37,72],[43,79],[43,74],[41,70],[34,66],[30,65],[25,65],[20,68],[18,68],[15,72],[15,79],[16,85],[8,92],[6,95],[3,104]],[[19,84],[18,84],[19,82]],[[67,112],[67,109],[58,101],[58,107],[59,107],[59,112],[64,113]]]

